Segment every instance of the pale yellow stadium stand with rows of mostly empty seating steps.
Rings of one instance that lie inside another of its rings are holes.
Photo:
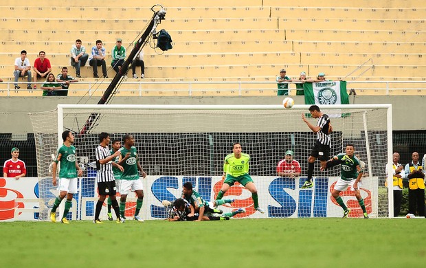
[[[134,1],[124,0],[120,6],[96,7],[76,0],[67,3],[69,6],[52,6],[49,1],[41,0],[36,6],[27,6],[16,0],[5,0],[0,7],[4,14],[0,28],[3,36],[0,77],[5,82],[13,81],[13,60],[21,49],[27,50],[31,63],[39,51],[45,51],[54,74],[58,74],[60,67],[69,66],[69,49],[76,38],[82,39],[88,51],[96,39],[101,39],[106,47],[106,63],[110,65],[115,38],[122,38],[125,47],[133,43],[152,16],[150,7],[156,3],[144,1],[143,7],[135,7]],[[282,68],[287,69],[291,78],[298,78],[300,71],[306,71],[309,77],[325,72],[329,79],[348,81],[425,80],[424,1],[336,3],[326,0],[289,6],[278,0],[243,3],[219,0],[208,4],[183,0],[170,5],[165,6],[166,20],[159,29],[168,30],[173,49],[162,55],[159,49],[144,49],[144,82],[271,82]],[[69,74],[74,75],[72,67]],[[96,81],[88,65],[82,67],[81,74],[84,82]],[[108,74],[111,79],[115,72],[110,69]],[[19,83],[25,80],[20,78]],[[0,96],[5,96],[6,87],[0,85]],[[163,89],[159,84],[148,85],[146,90],[140,85],[135,91],[131,90],[135,85],[126,87],[119,95],[141,95],[142,92],[161,95],[160,91],[150,93],[149,89]],[[164,88],[168,90],[163,92],[180,96],[185,87],[188,89],[188,85],[166,84]],[[225,86],[220,93],[215,90],[217,85],[197,87],[205,92],[202,95],[234,94]],[[393,87],[392,93],[406,85]],[[275,85],[265,84],[261,88],[254,85],[253,88],[258,90],[248,90],[247,94],[276,94]],[[426,85],[419,83],[416,88],[418,90],[409,91],[410,94],[422,94]],[[364,95],[384,93],[371,89],[368,84],[357,84],[356,89]],[[37,96],[38,93],[25,90],[9,95]],[[82,94],[84,92],[77,89],[69,92],[70,96]]]

